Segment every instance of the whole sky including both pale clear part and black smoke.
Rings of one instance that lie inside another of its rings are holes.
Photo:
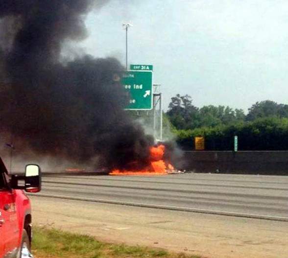
[[[19,153],[145,165],[153,139],[112,80],[122,23],[133,24],[129,63],[154,65],[165,107],[180,93],[247,109],[286,103],[287,11],[272,0],[0,0],[0,135]]]

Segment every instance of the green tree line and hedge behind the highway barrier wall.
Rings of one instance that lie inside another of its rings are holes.
[[[204,136],[205,150],[232,150],[238,135],[239,150],[288,150],[287,104],[257,102],[245,114],[222,105],[198,108],[189,95],[177,94],[166,116],[183,149],[194,149],[194,137]]]

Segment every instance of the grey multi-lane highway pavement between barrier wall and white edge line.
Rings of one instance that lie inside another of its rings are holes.
[[[35,195],[288,221],[288,177],[281,176],[44,175]]]

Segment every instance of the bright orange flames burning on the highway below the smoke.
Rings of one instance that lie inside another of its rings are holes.
[[[150,147],[150,165],[140,171],[114,169],[110,175],[163,175],[173,171],[174,167],[163,160],[165,146]]]

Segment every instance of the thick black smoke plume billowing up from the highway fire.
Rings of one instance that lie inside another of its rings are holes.
[[[153,139],[123,111],[126,97],[112,80],[123,67],[92,56],[61,62],[66,40],[87,36],[93,0],[0,0],[0,133],[18,149],[102,165],[145,163]],[[17,145],[17,142],[15,143]]]

